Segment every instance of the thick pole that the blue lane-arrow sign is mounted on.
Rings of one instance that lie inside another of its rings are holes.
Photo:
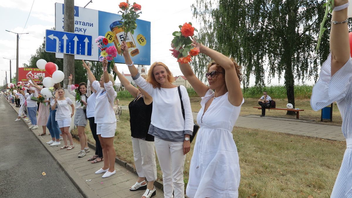
[[[74,0],[64,0],[64,31],[75,32]],[[72,74],[72,83],[75,83],[75,55],[64,54],[64,88],[68,85],[68,76]]]

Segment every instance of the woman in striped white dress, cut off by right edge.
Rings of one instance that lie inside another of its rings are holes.
[[[318,111],[337,102],[342,117],[342,134],[347,148],[331,193],[332,198],[352,197],[352,61],[348,42],[347,0],[335,0],[332,12],[330,50],[313,87],[310,105]]]

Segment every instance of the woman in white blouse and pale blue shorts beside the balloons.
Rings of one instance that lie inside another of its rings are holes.
[[[59,125],[59,128],[62,132],[62,137],[64,139],[64,146],[61,147],[61,149],[67,148],[67,150],[71,150],[74,148],[74,145],[69,129],[71,125],[71,118],[75,113],[75,106],[73,106],[72,100],[69,97],[65,98],[65,90],[63,88],[58,88],[57,94],[58,98],[54,99],[55,103],[51,105],[51,110],[54,111],[57,106],[55,120]],[[69,109],[69,106],[72,108],[72,113]],[[67,138],[70,141],[70,146],[67,144]]]

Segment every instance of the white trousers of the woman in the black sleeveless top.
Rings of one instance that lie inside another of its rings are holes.
[[[132,148],[138,177],[145,177],[147,181],[155,181],[157,176],[154,142],[132,137]]]

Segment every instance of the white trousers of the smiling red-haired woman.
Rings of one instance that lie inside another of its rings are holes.
[[[183,142],[169,142],[154,138],[155,150],[163,172],[164,197],[184,198],[183,169],[186,155],[183,155]]]

